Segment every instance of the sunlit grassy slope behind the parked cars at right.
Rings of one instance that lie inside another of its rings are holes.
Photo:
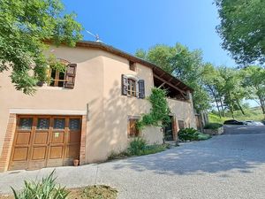
[[[255,108],[255,109],[247,109],[244,111],[246,112],[245,115],[243,115],[241,111],[235,111],[234,112],[235,119],[237,119],[237,120],[256,120],[256,121],[264,120],[264,115],[262,114],[261,109]],[[223,121],[225,121],[227,119],[232,119],[232,117],[231,117],[231,112],[227,112],[226,117],[221,118],[221,119],[216,114],[209,113],[208,119],[209,119],[209,122],[223,124]]]

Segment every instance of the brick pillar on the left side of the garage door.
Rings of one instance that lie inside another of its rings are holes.
[[[3,150],[0,157],[0,172],[7,171],[8,169],[15,130],[16,130],[16,114],[10,114],[4,137]]]

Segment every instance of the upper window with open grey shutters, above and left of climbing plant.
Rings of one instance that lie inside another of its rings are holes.
[[[122,74],[122,95],[145,98],[145,81],[133,75]]]

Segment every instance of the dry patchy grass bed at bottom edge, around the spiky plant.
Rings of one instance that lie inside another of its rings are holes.
[[[92,185],[86,188],[68,189],[68,199],[116,199],[117,189],[106,185]],[[13,195],[0,195],[0,199],[14,199]]]

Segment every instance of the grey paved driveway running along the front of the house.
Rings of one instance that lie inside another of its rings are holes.
[[[259,126],[258,126],[259,127]],[[236,128],[236,127],[231,127]],[[57,168],[57,181],[67,187],[107,184],[119,198],[264,199],[265,127],[247,127],[247,134],[215,136],[145,157],[100,165]],[[239,132],[240,131],[240,132]],[[52,168],[0,173],[0,193],[22,181],[40,179]]]

